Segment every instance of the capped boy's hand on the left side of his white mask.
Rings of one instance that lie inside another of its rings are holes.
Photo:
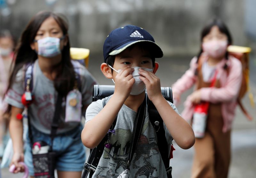
[[[126,66],[121,70],[115,78],[115,91],[114,94],[120,96],[124,100],[130,95],[132,85],[135,83],[135,79],[132,77],[133,68]]]

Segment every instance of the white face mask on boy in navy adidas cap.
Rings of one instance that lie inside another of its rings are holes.
[[[109,65],[108,65],[109,66]],[[116,71],[117,73],[119,73],[121,71],[121,69],[116,70],[113,67],[109,66],[111,69],[113,69],[114,71]],[[132,72],[132,77],[135,79],[135,83],[132,86],[132,90],[131,90],[131,95],[139,95],[140,93],[142,93],[143,91],[146,90],[146,85],[145,83],[140,80],[139,76],[141,76],[139,74],[139,69],[144,69],[146,71],[152,72],[153,69],[148,69],[148,68],[143,68],[143,67],[131,67],[134,69],[134,71]],[[112,81],[115,83],[115,81],[112,79]]]

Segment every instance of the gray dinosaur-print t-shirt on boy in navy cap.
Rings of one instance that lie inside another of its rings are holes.
[[[111,96],[110,96],[111,97]],[[105,99],[108,99],[107,97]],[[104,100],[104,99],[103,99]],[[85,124],[92,120],[102,109],[102,101],[97,100],[92,102],[86,110]],[[172,108],[178,113],[175,105],[170,103]],[[148,118],[148,108],[146,109],[146,118],[143,124],[139,143],[135,149],[132,162],[130,164],[131,174],[130,177],[139,177],[150,174],[150,177],[167,177],[163,160],[159,153],[157,146],[157,137],[154,128]],[[130,151],[130,145],[132,140],[132,130],[137,112],[131,108],[123,105],[118,112],[115,135],[110,134],[109,143],[112,145],[111,149],[104,148],[104,152],[100,158],[96,172],[93,174],[93,178],[98,175],[103,177],[116,178],[126,169],[126,158]],[[165,137],[169,145],[169,152],[171,149],[172,136],[164,124]],[[95,129],[97,132],[97,128]],[[145,177],[145,176],[144,176]]]

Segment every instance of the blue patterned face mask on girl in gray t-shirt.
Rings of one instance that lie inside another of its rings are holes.
[[[38,44],[37,54],[45,58],[52,58],[61,53],[60,51],[60,40],[64,39],[65,36],[61,38],[55,37],[45,37],[40,40],[35,40]]]

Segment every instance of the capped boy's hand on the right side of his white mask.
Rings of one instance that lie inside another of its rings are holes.
[[[140,80],[142,80],[147,89],[148,99],[153,102],[159,96],[162,96],[160,79],[153,73],[143,69],[139,69]]]

